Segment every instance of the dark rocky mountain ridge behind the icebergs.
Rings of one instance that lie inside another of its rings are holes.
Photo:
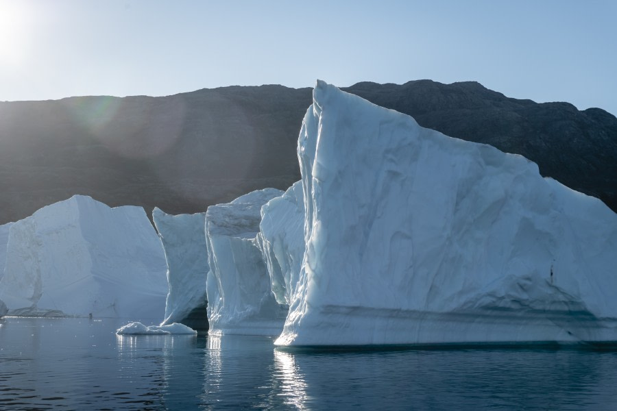
[[[423,127],[537,162],[540,173],[617,211],[617,119],[535,103],[476,82],[345,88]],[[0,224],[75,194],[172,214],[300,179],[298,129],[311,88],[224,87],[168,97],[0,103]]]

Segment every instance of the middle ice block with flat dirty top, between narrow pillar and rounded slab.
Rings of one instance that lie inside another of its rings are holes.
[[[208,322],[211,334],[280,334],[287,306],[276,302],[256,245],[261,206],[282,191],[256,190],[208,207]]]

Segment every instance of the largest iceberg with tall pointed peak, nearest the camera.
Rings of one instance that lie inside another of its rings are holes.
[[[276,345],[617,340],[617,214],[520,155],[317,82]]]

